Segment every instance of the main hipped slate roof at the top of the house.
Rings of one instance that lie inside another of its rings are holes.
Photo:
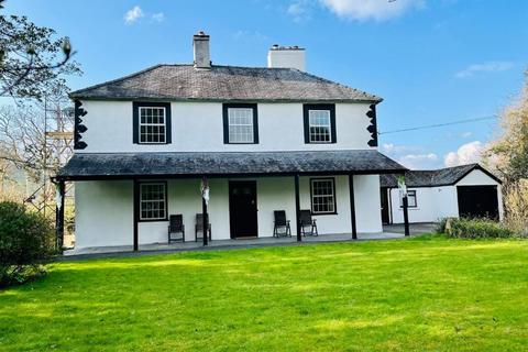
[[[80,89],[73,99],[374,102],[380,97],[295,68],[157,65]]]

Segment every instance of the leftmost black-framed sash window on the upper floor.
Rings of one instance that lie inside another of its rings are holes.
[[[170,103],[134,102],[133,118],[134,143],[170,143]]]

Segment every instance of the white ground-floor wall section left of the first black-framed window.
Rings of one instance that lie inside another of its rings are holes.
[[[75,245],[133,244],[133,185],[125,182],[75,184]]]

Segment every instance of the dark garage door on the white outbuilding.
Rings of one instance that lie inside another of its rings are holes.
[[[458,186],[461,218],[498,219],[497,186]]]

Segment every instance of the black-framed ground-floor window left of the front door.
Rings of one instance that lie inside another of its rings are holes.
[[[140,221],[167,219],[167,184],[140,183]]]

